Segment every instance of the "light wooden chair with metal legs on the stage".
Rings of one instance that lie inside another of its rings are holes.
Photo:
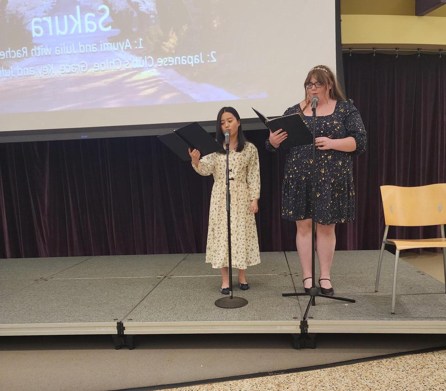
[[[375,292],[380,282],[381,261],[384,246],[396,246],[395,269],[393,272],[392,314],[395,314],[396,275],[401,250],[409,248],[442,247],[446,292],[446,183],[418,187],[381,186],[385,229],[376,272]],[[438,239],[387,239],[389,226],[439,225],[441,238]]]

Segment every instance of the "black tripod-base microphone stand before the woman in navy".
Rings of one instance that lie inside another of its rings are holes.
[[[311,305],[316,305],[316,300],[314,298],[318,297],[326,297],[327,299],[334,300],[342,300],[348,301],[350,303],[355,303],[356,300],[346,299],[345,297],[337,297],[324,295],[323,293],[319,293],[318,288],[316,287],[316,283],[314,280],[314,253],[315,253],[315,222],[314,222],[314,214],[315,214],[315,202],[316,202],[316,185],[315,185],[315,177],[316,177],[316,105],[312,104],[311,110],[313,111],[313,162],[311,163],[313,169],[313,177],[311,179],[311,288],[309,293],[299,292],[299,293],[282,293],[282,296],[310,296],[310,301],[306,307],[305,314],[301,321],[301,333],[297,339],[293,340],[293,348],[316,348],[316,340],[315,335],[310,335],[308,333],[308,322],[307,316],[310,311]]]

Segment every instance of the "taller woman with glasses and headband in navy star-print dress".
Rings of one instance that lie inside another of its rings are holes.
[[[335,253],[335,224],[355,218],[355,186],[352,156],[365,151],[366,132],[359,111],[346,99],[328,66],[314,67],[304,82],[305,100],[289,107],[284,115],[298,113],[313,128],[311,99],[318,96],[316,110],[316,251],[321,270],[322,293],[333,295],[330,269]],[[312,130],[310,131],[312,132]],[[270,132],[266,148],[281,149],[287,137]],[[306,292],[311,287],[311,179],[313,146],[291,148],[285,161],[282,184],[282,218],[296,221],[296,246]]]

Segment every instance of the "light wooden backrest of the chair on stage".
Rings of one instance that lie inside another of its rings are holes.
[[[446,183],[417,187],[381,186],[381,198],[386,225],[446,224]]]

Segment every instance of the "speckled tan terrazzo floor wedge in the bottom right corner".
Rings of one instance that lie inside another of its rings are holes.
[[[285,375],[177,387],[175,391],[444,391],[446,350]]]

